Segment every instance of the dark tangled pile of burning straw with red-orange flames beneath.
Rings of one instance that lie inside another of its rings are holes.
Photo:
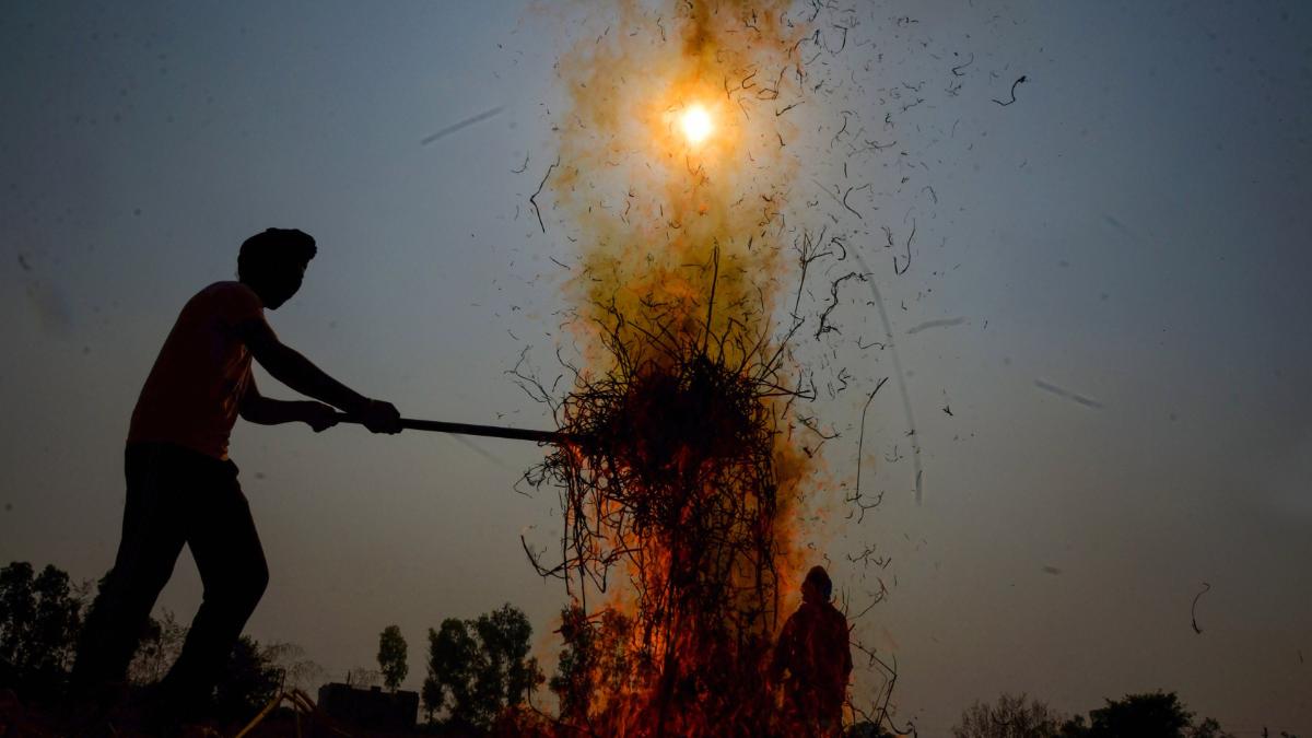
[[[610,316],[613,366],[580,376],[559,407],[575,443],[533,478],[559,488],[567,523],[562,559],[535,563],[584,603],[563,629],[576,657],[619,640],[610,647],[626,658],[609,663],[627,674],[592,658],[560,687],[563,718],[600,733],[770,734],[766,667],[795,570],[798,494],[795,474],[781,485],[778,473],[798,464],[783,352],[733,328],[712,336],[710,320],[699,335],[639,327],[626,341],[625,316]],[[589,617],[588,592],[606,594],[615,569],[631,607],[613,597]]]

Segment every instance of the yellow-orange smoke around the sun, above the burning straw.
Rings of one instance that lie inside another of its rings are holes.
[[[702,334],[707,316],[712,335],[769,331],[798,171],[783,110],[803,93],[804,30],[786,8],[625,3],[560,59],[571,106],[551,186],[581,250],[569,285],[580,324],[625,315],[634,347],[642,330]],[[693,105],[714,126],[701,143],[678,125]]]

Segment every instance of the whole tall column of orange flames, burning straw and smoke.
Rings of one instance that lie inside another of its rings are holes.
[[[808,563],[811,458],[775,298],[806,88],[789,3],[622,4],[560,59],[551,185],[586,365],[556,408],[562,721],[602,735],[783,735],[773,643]],[[785,102],[781,102],[785,101]],[[546,395],[546,393],[543,393]],[[813,563],[813,562],[810,562]],[[601,607],[598,607],[598,604]]]

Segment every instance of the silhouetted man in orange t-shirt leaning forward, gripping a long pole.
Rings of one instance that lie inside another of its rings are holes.
[[[269,582],[237,467],[228,458],[239,415],[262,425],[299,420],[319,432],[336,424],[335,406],[375,433],[400,431],[391,403],[337,382],[282,344],[264,319],[265,309],[277,310],[300,289],[316,251],[315,239],[298,230],[256,234],[237,255],[239,281],[215,282],[182,307],[133,411],[122,540],[87,617],[75,695],[122,693],[155,599],[185,544],[205,597],[152,703],[178,720],[203,717],[198,713]],[[261,395],[252,357],[278,381],[323,402]]]

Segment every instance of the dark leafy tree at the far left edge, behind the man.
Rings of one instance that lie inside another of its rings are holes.
[[[72,666],[83,603],[68,574],[14,561],[0,570],[0,685],[51,696]]]

